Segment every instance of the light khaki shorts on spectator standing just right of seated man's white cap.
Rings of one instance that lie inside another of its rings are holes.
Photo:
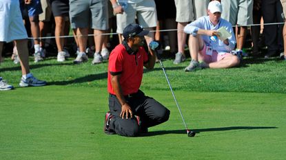
[[[221,18],[232,25],[252,25],[253,0],[221,0]]]

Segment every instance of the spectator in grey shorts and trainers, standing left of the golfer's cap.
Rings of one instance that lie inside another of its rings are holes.
[[[101,48],[103,35],[108,30],[108,1],[106,0],[70,0],[70,23],[79,43],[79,54],[75,64],[88,61],[85,48],[88,40],[88,29],[94,30],[95,53],[92,64],[102,62]]]

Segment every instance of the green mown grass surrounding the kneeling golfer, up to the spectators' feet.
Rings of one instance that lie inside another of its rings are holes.
[[[247,60],[238,68],[194,73],[183,71],[190,59],[163,61],[196,137],[187,137],[159,64],[145,71],[142,91],[171,115],[132,138],[103,133],[107,62],[30,62],[49,85],[0,92],[0,159],[285,159],[286,62]],[[6,58],[0,71],[18,86],[19,65]]]

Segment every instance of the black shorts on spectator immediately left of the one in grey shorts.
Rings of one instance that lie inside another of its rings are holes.
[[[70,5],[68,0],[52,0],[52,14],[54,16],[68,16]]]

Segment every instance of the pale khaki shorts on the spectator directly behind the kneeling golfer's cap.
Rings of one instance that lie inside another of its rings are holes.
[[[116,32],[123,34],[124,28],[130,23],[135,23],[136,18],[139,25],[143,28],[156,27],[157,14],[155,1],[144,0],[139,3],[127,3],[127,8],[123,14],[116,14]]]

